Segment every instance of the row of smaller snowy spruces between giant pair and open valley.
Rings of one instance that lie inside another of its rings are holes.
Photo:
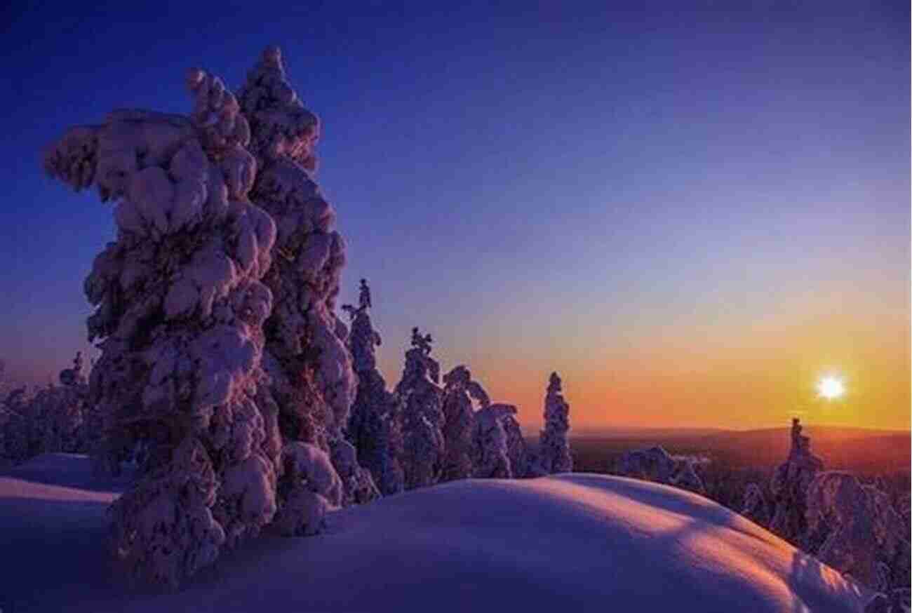
[[[358,303],[343,306],[351,319],[348,343],[358,375],[347,437],[382,494],[469,477],[510,479],[573,470],[569,405],[556,373],[545,395],[536,452],[526,446],[516,407],[492,403],[470,369],[459,365],[440,376],[440,363],[431,356],[433,338],[417,327],[402,377],[387,390],[377,368],[381,338],[370,318],[365,279]]]

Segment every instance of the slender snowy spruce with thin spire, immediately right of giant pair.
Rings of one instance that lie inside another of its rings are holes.
[[[371,322],[370,307],[370,288],[367,280],[361,279],[358,308],[342,307],[351,317],[348,348],[358,375],[358,395],[351,407],[347,435],[358,450],[358,462],[368,468],[379,491],[389,495],[405,487],[399,465],[401,416],[395,395],[387,390],[387,382],[377,369],[380,335]]]

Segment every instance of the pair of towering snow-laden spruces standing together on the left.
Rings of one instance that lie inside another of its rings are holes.
[[[238,98],[200,69],[187,85],[190,116],[114,111],[45,155],[51,176],[117,202],[85,284],[94,456],[116,471],[147,446],[148,471],[112,507],[114,549],[171,584],[276,512],[283,531],[313,532],[363,484],[342,438],[356,379],[334,315],[344,243],[310,175],[316,116],[275,47]]]

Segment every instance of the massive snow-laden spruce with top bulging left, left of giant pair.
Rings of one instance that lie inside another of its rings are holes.
[[[117,239],[85,283],[100,338],[90,401],[105,418],[98,460],[149,444],[148,472],[111,507],[116,556],[176,584],[275,514],[275,403],[260,368],[273,295],[275,223],[247,198],[256,161],[237,100],[188,73],[190,117],[116,110],[67,130],[45,168],[115,200]]]

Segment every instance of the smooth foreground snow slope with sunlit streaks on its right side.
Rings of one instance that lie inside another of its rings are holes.
[[[699,495],[591,474],[457,481],[264,536],[178,593],[130,589],[78,455],[0,476],[0,608],[23,611],[860,611],[834,570]]]

